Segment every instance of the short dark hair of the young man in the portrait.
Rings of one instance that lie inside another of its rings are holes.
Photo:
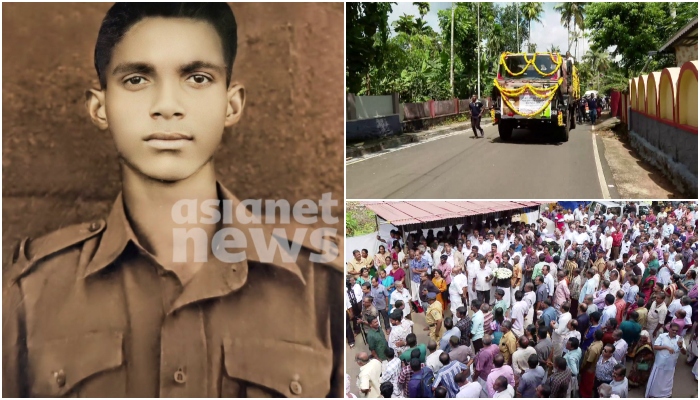
[[[95,70],[102,89],[107,87],[107,66],[114,47],[144,18],[190,18],[209,23],[219,34],[226,63],[226,86],[231,82],[238,49],[236,17],[226,3],[115,3],[100,26],[95,44]]]

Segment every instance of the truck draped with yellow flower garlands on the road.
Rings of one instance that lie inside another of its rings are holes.
[[[553,128],[559,141],[568,141],[579,91],[576,67],[559,53],[501,54],[491,93],[501,140],[510,140],[515,128]]]

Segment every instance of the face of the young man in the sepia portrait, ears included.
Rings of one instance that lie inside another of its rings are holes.
[[[107,89],[91,91],[104,106],[93,121],[109,128],[122,162],[151,179],[198,172],[243,109],[243,88],[227,90],[221,39],[205,22],[136,23],[114,47],[105,74]]]

